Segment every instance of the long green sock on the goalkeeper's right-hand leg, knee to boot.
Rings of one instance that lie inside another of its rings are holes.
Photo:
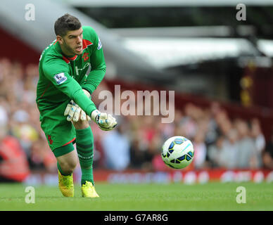
[[[94,138],[91,127],[86,129],[76,129],[76,146],[80,167],[82,169],[81,183],[85,184],[85,181],[89,181],[94,185],[92,167]]]

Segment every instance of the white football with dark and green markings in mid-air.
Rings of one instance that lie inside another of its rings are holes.
[[[193,160],[193,144],[184,136],[172,136],[163,144],[161,157],[168,167],[183,169]]]

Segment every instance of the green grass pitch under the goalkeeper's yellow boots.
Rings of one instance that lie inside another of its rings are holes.
[[[236,203],[238,186],[246,188],[246,203]],[[35,203],[25,203],[22,184],[0,184],[0,210],[273,210],[273,184],[108,184],[96,183],[101,198],[64,198],[58,186],[34,186]]]

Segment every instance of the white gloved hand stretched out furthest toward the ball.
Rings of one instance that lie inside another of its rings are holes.
[[[91,119],[96,122],[103,131],[110,131],[117,126],[117,122],[112,115],[101,113],[99,110],[94,110],[91,113]]]

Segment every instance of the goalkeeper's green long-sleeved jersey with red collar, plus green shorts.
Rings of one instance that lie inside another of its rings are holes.
[[[62,136],[63,132],[68,134],[68,129],[74,128],[63,115],[66,105],[73,100],[87,115],[91,115],[96,105],[82,89],[86,89],[91,94],[106,73],[106,63],[98,35],[88,26],[83,26],[82,30],[81,55],[65,57],[58,41],[53,41],[44,49],[40,57],[36,102],[40,112],[41,127],[46,136],[50,136],[51,149],[62,146],[63,143],[63,141],[55,141],[57,144],[51,144],[52,136]],[[72,131],[68,139],[74,136],[74,133]]]

